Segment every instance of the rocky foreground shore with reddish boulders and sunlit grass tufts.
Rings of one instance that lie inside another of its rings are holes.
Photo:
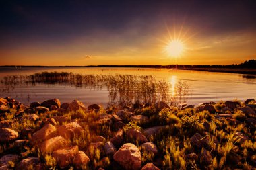
[[[256,101],[109,106],[0,98],[1,169],[255,169]]]

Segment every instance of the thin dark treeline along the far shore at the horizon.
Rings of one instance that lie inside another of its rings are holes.
[[[17,67],[15,65],[4,65],[0,67]],[[20,66],[19,66],[20,67]],[[232,65],[86,65],[86,66],[40,66],[28,65],[21,67],[128,67],[128,68],[169,68],[169,69],[193,69],[193,68],[229,68],[229,69],[248,69],[256,68],[256,60],[248,60],[241,64]]]

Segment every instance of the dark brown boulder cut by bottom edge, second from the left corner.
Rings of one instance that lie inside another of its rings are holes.
[[[38,157],[28,157],[26,159],[22,159],[15,169],[31,170],[34,169],[34,166],[38,163],[40,163],[40,159]]]

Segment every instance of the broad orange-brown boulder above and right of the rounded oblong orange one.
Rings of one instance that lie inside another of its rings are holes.
[[[69,124],[64,124],[57,128],[57,132],[59,135],[63,136],[64,138],[71,140],[74,136],[78,136],[81,134],[83,128],[77,122],[71,122]]]

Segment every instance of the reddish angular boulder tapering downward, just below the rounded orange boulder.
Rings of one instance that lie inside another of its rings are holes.
[[[79,154],[78,146],[71,146],[53,151],[52,156],[57,161],[57,165],[64,168],[73,163],[73,160],[77,154]]]

